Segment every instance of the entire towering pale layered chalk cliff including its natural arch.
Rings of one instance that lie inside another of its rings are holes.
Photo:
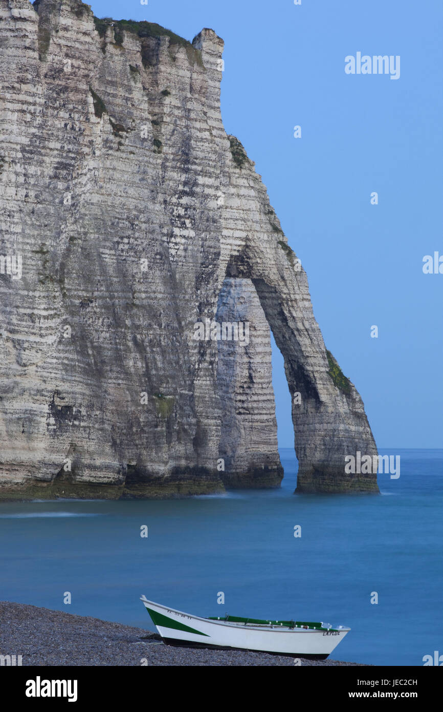
[[[377,491],[344,473],[373,436],[223,129],[222,52],[208,29],[0,0],[1,498],[278,485],[269,327],[300,394],[298,489]]]

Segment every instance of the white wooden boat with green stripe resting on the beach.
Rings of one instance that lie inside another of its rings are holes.
[[[326,659],[346,634],[345,626],[305,621],[260,620],[225,615],[189,615],[141,597],[165,643],[200,647],[260,650],[281,655]]]

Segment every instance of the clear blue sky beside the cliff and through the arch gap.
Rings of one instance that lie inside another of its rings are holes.
[[[223,37],[225,129],[262,175],[378,446],[442,447],[443,274],[422,272],[423,256],[443,255],[442,1],[97,0],[92,9],[189,40],[203,27]],[[400,78],[346,75],[344,59],[358,51],[400,55]],[[274,389],[279,444],[292,446],[275,346]]]

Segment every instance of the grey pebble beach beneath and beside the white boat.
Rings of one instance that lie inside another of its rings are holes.
[[[140,666],[144,659],[149,666],[294,666],[293,658],[267,653],[176,648],[143,628],[7,601],[0,602],[0,654],[21,655],[23,666]],[[301,665],[358,663],[301,658]]]

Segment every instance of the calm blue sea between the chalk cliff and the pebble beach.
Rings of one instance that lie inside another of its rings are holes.
[[[443,653],[443,450],[380,452],[401,463],[399,479],[378,476],[381,496],[294,496],[297,461],[280,453],[279,490],[0,503],[0,600],[153,630],[144,594],[203,616],[348,625],[339,660],[422,665]]]

